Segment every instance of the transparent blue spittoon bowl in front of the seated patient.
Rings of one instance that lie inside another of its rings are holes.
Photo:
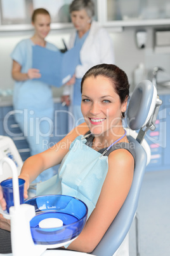
[[[57,245],[79,236],[87,219],[88,208],[81,200],[71,196],[47,195],[25,200],[35,207],[36,216],[30,220],[32,239],[37,245]],[[61,227],[41,228],[46,218],[62,220]]]

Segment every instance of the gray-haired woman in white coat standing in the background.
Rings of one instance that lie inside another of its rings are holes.
[[[81,78],[96,64],[114,64],[114,46],[108,32],[93,20],[95,5],[92,0],[74,0],[70,4],[70,16],[75,31],[70,36],[68,48],[82,44],[80,62],[75,68],[75,83],[66,86],[62,101],[69,106],[69,131],[84,122],[81,113]]]

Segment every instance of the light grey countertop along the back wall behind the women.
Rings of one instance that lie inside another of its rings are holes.
[[[158,94],[161,95],[166,95],[166,94],[170,94],[170,87],[157,87],[157,92]],[[61,99],[60,97],[53,97],[54,102],[55,103],[60,103]],[[13,101],[12,101],[12,96],[0,96],[0,107],[3,106],[12,106],[13,105]]]

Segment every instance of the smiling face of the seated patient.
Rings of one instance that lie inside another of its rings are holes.
[[[95,134],[110,135],[122,125],[121,112],[127,103],[121,104],[119,95],[108,78],[86,78],[82,86],[81,111],[89,130]]]

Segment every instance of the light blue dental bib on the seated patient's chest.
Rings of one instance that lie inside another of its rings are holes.
[[[62,194],[76,197],[88,206],[88,217],[95,209],[108,171],[108,157],[87,146],[78,136],[62,160],[58,175],[37,185],[37,195]]]

